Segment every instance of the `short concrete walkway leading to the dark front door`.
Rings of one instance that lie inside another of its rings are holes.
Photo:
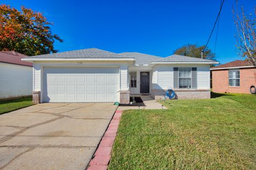
[[[136,96],[137,97],[137,96]],[[118,111],[124,111],[129,109],[166,109],[163,105],[154,100],[151,96],[139,96],[146,106],[118,106]]]

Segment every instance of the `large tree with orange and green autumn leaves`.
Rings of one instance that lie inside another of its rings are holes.
[[[32,56],[56,53],[55,40],[63,42],[52,34],[50,25],[42,13],[24,6],[21,11],[9,5],[0,5],[0,50],[14,50]]]

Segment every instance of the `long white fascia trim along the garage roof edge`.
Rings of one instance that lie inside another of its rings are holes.
[[[21,58],[22,61],[135,61],[134,58]]]

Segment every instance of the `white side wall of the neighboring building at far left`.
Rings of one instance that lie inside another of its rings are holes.
[[[0,63],[0,99],[32,95],[33,67]]]

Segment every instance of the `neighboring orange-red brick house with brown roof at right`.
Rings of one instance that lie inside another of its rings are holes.
[[[236,60],[210,70],[213,92],[250,94],[250,87],[256,86],[256,67],[247,61]]]

